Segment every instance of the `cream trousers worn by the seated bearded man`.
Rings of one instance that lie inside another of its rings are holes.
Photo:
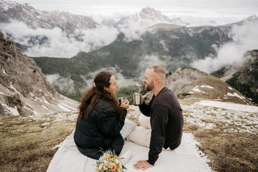
[[[131,131],[130,134],[126,137],[126,140],[149,148],[151,136],[150,117],[146,117],[141,114],[138,121],[141,125],[137,126],[135,130]],[[170,151],[170,148],[162,148],[162,150]]]

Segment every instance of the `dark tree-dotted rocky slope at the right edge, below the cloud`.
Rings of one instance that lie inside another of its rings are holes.
[[[211,75],[258,103],[258,50],[246,52],[243,63],[224,66]]]

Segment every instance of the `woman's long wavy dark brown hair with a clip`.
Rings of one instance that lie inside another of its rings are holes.
[[[98,102],[100,97],[103,97],[105,100],[109,101],[116,108],[116,116],[119,120],[123,120],[121,117],[121,109],[116,101],[116,98],[113,94],[104,90],[104,87],[110,86],[110,77],[112,76],[111,72],[102,71],[99,72],[95,78],[94,83],[96,87],[92,87],[85,93],[83,93],[81,99],[79,100],[80,105],[78,106],[79,118],[82,118],[84,115],[87,116],[90,114],[94,105]],[[86,108],[88,106],[88,108]],[[86,112],[86,113],[85,113]]]

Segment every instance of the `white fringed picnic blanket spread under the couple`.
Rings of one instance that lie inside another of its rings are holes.
[[[75,130],[74,130],[75,131]],[[60,143],[58,151],[55,153],[52,161],[49,164],[47,172],[57,171],[89,171],[94,172],[96,168],[96,160],[88,158],[81,154],[74,143],[74,131]],[[175,150],[162,151],[156,161],[154,167],[148,168],[145,171],[211,171],[206,163],[207,159],[204,153],[198,151],[196,142],[191,133],[183,133],[181,145]],[[133,152],[124,166],[125,172],[142,171],[133,168],[133,165],[138,160],[147,160],[149,148],[137,145],[131,141],[125,140],[123,150],[120,155],[128,150]],[[201,157],[202,156],[202,157]]]

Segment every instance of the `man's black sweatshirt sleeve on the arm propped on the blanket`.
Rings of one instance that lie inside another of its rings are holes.
[[[170,114],[170,109],[166,105],[155,104],[152,107],[150,151],[147,160],[151,165],[155,164],[164,146],[165,130]]]

